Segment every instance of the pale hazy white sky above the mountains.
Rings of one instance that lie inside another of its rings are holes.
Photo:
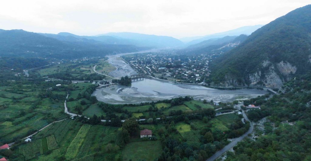
[[[96,35],[137,32],[175,38],[267,24],[310,0],[5,0],[0,29]]]

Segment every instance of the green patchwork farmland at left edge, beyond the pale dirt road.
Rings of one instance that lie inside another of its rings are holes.
[[[57,119],[66,118],[63,111],[63,101],[66,92],[51,91],[48,98],[40,98],[41,89],[29,85],[31,82],[10,84],[0,91],[0,142],[11,143],[27,134],[48,125]],[[58,82],[44,82],[43,91]],[[54,85],[55,86],[55,85]],[[4,108],[3,108],[4,107]],[[49,117],[46,117],[49,116]]]

